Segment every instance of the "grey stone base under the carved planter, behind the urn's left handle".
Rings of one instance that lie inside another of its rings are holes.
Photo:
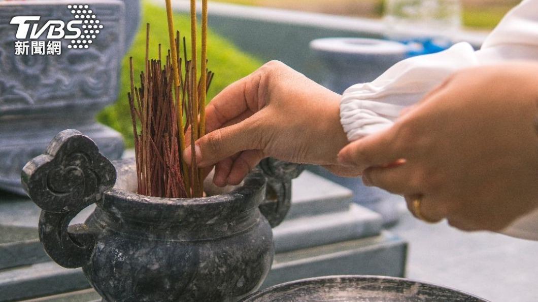
[[[41,119],[41,120],[39,120]],[[123,154],[123,137],[107,126],[93,121],[83,123],[66,117],[36,121],[0,120],[0,189],[26,195],[20,184],[20,172],[33,157],[43,154],[52,138],[60,131],[74,128],[93,139],[101,153],[109,160],[117,160]]]

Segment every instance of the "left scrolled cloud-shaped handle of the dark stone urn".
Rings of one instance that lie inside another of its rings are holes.
[[[44,154],[24,166],[21,181],[42,210],[39,239],[47,254],[65,268],[87,264],[95,236],[87,225],[69,226],[69,222],[114,186],[112,163],[88,136],[65,130],[54,137]]]

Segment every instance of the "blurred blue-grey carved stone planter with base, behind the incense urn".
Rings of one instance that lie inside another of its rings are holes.
[[[75,4],[91,13],[82,20],[68,8]],[[39,17],[36,29],[45,31],[32,38],[30,25],[26,37],[16,37],[19,26],[10,24],[15,16]],[[50,21],[65,29],[74,20],[88,21],[74,25],[84,38],[48,39]],[[117,98],[120,62],[138,21],[139,0],[0,1],[0,190],[24,194],[20,169],[66,128],[87,133],[110,159],[121,157],[122,136],[96,123],[95,114]],[[48,53],[53,41],[61,52]],[[27,43],[26,52],[17,54],[17,42]],[[32,42],[43,42],[45,53],[33,53]]]

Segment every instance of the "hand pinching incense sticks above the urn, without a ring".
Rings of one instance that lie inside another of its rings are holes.
[[[277,61],[231,84],[206,108],[207,135],[196,141],[196,163],[216,164],[214,183],[240,183],[261,159],[339,167],[348,140],[340,124],[341,96]],[[189,135],[187,135],[188,137]],[[190,164],[191,150],[183,152]]]

